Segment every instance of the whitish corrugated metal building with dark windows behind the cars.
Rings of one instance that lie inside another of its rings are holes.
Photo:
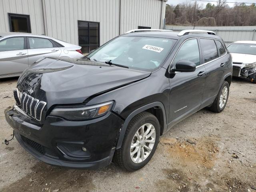
[[[89,52],[136,28],[163,28],[167,0],[0,0],[0,32],[45,34]]]

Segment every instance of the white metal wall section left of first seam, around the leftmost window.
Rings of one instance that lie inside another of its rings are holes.
[[[31,32],[44,33],[41,0],[0,0],[0,32],[10,32],[8,13],[30,15]]]

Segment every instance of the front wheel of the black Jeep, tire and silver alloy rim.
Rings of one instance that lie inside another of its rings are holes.
[[[136,115],[126,129],[122,147],[116,150],[115,160],[125,170],[144,167],[154,155],[160,137],[156,116],[148,112]]]

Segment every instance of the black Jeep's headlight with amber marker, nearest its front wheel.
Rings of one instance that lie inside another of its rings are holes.
[[[56,107],[50,115],[65,118],[67,120],[90,120],[107,114],[114,102],[106,102],[102,104],[83,106],[83,107]]]

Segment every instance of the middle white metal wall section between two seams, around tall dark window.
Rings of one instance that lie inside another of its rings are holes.
[[[47,35],[78,44],[78,20],[100,22],[100,44],[119,34],[119,0],[44,0]]]

